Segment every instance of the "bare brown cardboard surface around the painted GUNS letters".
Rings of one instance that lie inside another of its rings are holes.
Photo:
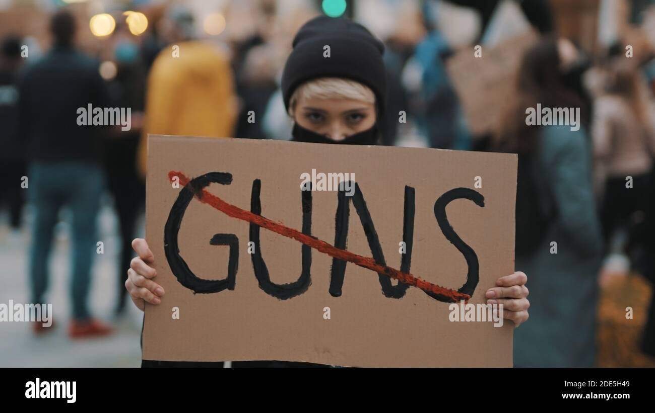
[[[229,248],[210,245],[217,233],[238,237],[233,290],[194,294],[178,282],[164,254],[164,226],[182,190],[168,173],[189,178],[231,173],[229,185],[209,193],[250,211],[253,181],[261,180],[261,216],[302,228],[301,173],[354,173],[379,237],[386,265],[400,269],[405,186],[415,188],[410,273],[446,288],[466,280],[467,263],[443,235],[435,202],[453,188],[470,188],[484,206],[456,199],[446,208],[458,236],[476,253],[479,283],[470,303],[483,303],[499,276],[514,272],[517,158],[512,154],[420,148],[307,144],[282,140],[206,139],[149,135],[147,242],[155,280],[166,290],[160,305],[146,305],[143,358],[169,361],[288,360],[345,366],[512,366],[512,322],[450,322],[449,303],[411,286],[400,299],[384,297],[378,274],[348,263],[342,294],[329,293],[331,257],[311,250],[311,284],[280,300],[259,288],[248,254],[248,222],[194,198],[179,229],[179,252],[199,278],[227,276]],[[476,176],[481,188],[474,188]],[[312,191],[311,235],[335,243],[337,192]],[[203,195],[204,199],[208,198]],[[271,280],[291,283],[301,274],[301,244],[260,228],[261,254]],[[346,249],[371,257],[350,203]],[[392,284],[398,282],[392,280]],[[173,320],[172,308],[179,308]],[[324,319],[324,308],[330,319]]]

